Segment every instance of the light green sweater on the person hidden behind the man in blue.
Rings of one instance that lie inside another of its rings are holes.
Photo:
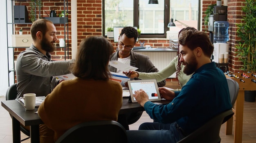
[[[152,73],[145,73],[145,72],[138,72],[140,79],[156,79],[157,82],[165,80],[166,78],[170,77],[173,73],[176,72],[176,66],[178,65],[178,56],[176,56],[170,63],[159,72],[152,72]],[[180,87],[186,85],[186,82],[189,81],[192,75],[187,76],[184,74],[183,69],[184,66],[181,65],[182,69],[180,71],[180,76],[178,76]]]

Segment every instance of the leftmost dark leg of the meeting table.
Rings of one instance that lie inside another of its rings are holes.
[[[12,117],[12,139],[13,143],[20,143],[20,122]]]

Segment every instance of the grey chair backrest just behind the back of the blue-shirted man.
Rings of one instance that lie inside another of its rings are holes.
[[[236,98],[238,96],[239,85],[235,80],[232,80],[231,78],[227,78],[227,85],[229,86],[231,105],[234,106]]]

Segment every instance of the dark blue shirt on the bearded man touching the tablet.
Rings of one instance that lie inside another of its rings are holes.
[[[148,101],[144,108],[155,121],[176,121],[187,134],[232,107],[226,77],[214,62],[200,67],[175,96],[169,104]]]

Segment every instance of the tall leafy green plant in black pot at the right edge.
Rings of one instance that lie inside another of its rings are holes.
[[[240,68],[245,73],[254,73],[256,71],[256,4],[255,0],[245,0],[245,6],[242,7],[242,11],[245,13],[241,23],[236,24],[237,36],[240,38],[239,44],[236,44],[236,56],[243,62],[243,66]],[[245,92],[245,100],[247,96]],[[256,93],[252,97],[252,101],[255,101]]]

